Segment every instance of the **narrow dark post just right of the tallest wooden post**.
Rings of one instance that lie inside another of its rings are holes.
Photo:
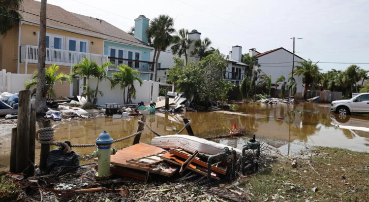
[[[36,110],[31,108],[30,120],[30,168],[28,169],[28,176],[34,175],[34,147],[36,144]]]

